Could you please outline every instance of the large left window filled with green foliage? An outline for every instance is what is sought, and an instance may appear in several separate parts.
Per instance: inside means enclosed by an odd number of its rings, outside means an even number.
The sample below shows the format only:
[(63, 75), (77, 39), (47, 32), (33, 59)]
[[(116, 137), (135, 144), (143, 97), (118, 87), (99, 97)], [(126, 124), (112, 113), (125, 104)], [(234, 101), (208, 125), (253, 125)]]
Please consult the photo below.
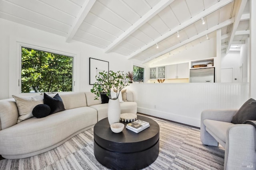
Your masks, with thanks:
[(73, 57), (21, 47), (21, 92), (73, 90)]

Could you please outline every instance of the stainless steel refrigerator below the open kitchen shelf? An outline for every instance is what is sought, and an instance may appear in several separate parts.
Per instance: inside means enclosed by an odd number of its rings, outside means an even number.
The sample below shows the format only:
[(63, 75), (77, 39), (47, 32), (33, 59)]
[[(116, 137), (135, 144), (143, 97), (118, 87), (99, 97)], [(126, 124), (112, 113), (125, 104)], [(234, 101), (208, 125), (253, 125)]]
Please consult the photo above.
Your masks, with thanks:
[(190, 70), (190, 83), (213, 83), (215, 79), (215, 67), (198, 68)]

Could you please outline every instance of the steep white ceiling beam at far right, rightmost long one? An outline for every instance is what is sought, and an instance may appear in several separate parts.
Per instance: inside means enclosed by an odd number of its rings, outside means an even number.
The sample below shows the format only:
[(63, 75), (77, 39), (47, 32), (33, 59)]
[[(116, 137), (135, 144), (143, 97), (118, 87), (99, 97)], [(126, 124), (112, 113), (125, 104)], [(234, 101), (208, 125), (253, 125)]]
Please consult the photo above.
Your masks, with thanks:
[(226, 54), (228, 53), (228, 51), (230, 49), (230, 46), (232, 44), (232, 41), (234, 39), (234, 36), (236, 34), (236, 29), (237, 29), (238, 24), (240, 22), (241, 16), (244, 12), (244, 8), (246, 6), (246, 3), (247, 3), (247, 0), (239, 0), (238, 1), (238, 10), (236, 11), (236, 14), (235, 14), (235, 21), (233, 23), (232, 31), (230, 33), (230, 38), (228, 40), (228, 47), (227, 47)]

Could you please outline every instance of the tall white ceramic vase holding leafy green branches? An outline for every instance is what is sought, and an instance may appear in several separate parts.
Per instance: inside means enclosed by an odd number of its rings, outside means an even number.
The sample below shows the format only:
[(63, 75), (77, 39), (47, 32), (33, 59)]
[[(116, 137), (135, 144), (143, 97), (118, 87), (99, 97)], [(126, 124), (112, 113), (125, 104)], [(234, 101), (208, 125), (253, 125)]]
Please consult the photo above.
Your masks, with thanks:
[(120, 121), (120, 102), (119, 99), (108, 101), (108, 122), (113, 124)]

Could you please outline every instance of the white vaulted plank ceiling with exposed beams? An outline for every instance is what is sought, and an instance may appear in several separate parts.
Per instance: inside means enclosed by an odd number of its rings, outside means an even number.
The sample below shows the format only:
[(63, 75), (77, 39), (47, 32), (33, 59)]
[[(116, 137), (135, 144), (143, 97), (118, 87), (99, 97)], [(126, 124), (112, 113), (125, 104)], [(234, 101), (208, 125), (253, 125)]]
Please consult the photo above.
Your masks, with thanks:
[(0, 0), (0, 18), (141, 63), (207, 41), (218, 29), (228, 52), (250, 32), (249, 0)]

